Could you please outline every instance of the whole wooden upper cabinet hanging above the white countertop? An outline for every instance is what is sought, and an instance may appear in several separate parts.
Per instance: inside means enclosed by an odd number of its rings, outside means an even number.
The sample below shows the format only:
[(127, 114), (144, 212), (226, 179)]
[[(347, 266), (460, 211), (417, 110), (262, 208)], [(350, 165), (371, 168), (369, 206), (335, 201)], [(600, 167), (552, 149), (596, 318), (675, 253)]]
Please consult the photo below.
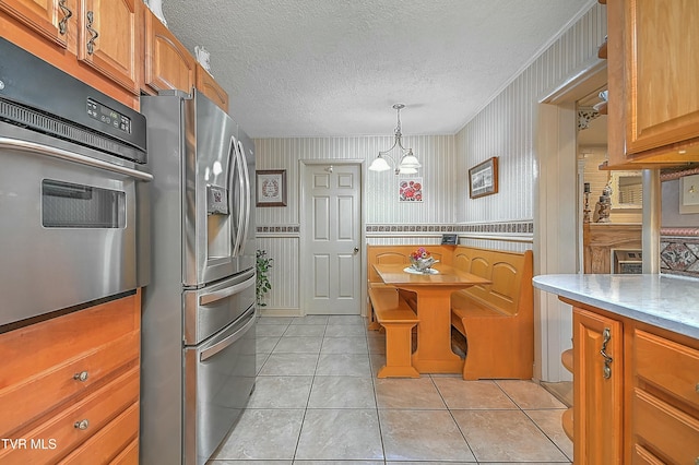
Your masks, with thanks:
[(699, 162), (699, 2), (607, 2), (609, 166)]

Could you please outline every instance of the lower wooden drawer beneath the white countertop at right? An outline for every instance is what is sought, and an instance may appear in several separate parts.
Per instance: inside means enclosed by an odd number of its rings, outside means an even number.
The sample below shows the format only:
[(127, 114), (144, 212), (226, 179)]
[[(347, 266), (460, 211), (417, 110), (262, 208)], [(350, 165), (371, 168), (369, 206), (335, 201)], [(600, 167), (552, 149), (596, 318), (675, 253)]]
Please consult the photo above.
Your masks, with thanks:
[(694, 464), (699, 457), (697, 418), (639, 389), (633, 393), (631, 415), (637, 448), (640, 444), (670, 463)]

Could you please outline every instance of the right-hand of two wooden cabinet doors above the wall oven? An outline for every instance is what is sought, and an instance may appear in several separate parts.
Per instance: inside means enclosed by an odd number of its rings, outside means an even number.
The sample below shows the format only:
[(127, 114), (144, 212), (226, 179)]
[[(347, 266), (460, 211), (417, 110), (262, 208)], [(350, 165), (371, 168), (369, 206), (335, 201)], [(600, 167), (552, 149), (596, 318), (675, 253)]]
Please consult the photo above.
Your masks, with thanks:
[(141, 0), (80, 0), (78, 59), (139, 94)]

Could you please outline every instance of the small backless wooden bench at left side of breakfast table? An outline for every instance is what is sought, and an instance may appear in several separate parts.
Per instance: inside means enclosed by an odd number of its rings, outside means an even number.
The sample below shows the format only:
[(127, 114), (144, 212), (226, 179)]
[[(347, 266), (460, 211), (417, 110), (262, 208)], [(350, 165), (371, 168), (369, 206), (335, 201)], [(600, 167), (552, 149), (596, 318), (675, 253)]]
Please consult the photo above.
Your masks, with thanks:
[(417, 315), (394, 287), (369, 288), (376, 322), (386, 330), (386, 365), (378, 378), (419, 378), (412, 365), (412, 334)]

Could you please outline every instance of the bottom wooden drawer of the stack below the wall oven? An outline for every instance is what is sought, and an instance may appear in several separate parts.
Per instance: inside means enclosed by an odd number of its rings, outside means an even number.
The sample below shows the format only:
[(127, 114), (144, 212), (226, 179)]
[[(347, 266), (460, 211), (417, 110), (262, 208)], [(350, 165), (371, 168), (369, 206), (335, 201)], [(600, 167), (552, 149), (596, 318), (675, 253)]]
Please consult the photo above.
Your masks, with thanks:
[[(132, 404), (60, 464), (138, 464), (139, 403)], [(135, 445), (135, 446), (134, 446)]]

